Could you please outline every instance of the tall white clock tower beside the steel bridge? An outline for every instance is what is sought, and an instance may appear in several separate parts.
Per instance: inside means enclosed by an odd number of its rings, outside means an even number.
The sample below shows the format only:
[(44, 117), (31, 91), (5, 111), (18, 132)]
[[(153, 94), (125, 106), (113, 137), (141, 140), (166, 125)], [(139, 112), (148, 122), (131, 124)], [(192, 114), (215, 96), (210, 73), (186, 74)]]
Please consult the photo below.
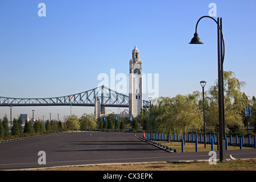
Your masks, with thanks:
[(136, 45), (132, 51), (129, 72), (129, 114), (133, 117), (141, 114), (142, 98), (142, 61), (139, 60), (139, 50)]

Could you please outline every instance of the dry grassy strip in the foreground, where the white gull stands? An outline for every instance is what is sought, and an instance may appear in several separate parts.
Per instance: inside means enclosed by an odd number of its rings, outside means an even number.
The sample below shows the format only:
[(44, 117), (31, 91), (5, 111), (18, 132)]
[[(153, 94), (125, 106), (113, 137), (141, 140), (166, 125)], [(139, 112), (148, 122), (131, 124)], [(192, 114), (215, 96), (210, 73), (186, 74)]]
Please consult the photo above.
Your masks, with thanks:
[(34, 171), (255, 171), (256, 159), (217, 162), (138, 163), (34, 169)]

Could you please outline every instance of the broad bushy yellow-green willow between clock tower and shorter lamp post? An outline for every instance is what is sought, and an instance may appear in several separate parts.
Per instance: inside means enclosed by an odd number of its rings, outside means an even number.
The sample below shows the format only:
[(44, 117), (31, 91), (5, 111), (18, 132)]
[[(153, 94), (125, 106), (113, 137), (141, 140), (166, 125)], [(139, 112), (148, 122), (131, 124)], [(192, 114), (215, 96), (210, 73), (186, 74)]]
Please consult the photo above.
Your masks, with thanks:
[(200, 93), (193, 92), (183, 96), (159, 97), (152, 107), (153, 128), (168, 134), (186, 133), (189, 128), (200, 129), (203, 117), (197, 105)]

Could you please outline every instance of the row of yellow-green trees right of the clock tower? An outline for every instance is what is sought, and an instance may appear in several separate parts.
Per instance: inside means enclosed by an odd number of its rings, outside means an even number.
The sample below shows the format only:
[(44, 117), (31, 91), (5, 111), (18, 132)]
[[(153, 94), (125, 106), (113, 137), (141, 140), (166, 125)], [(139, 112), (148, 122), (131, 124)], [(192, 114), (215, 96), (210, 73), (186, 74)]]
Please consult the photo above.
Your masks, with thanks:
[[(241, 89), (246, 82), (239, 81), (234, 72), (224, 72), (224, 101), (225, 101), (225, 133), (247, 134), (247, 125), (256, 126), (256, 99), (248, 97)], [(218, 81), (205, 92), (205, 121), (208, 133), (218, 133)], [(245, 107), (250, 107), (250, 121), (247, 121)], [(249, 113), (249, 114), (250, 114)], [(142, 109), (137, 120), (143, 129), (149, 130), (149, 112)], [(249, 120), (249, 119), (248, 119)], [(203, 94), (196, 91), (185, 96), (159, 97), (152, 101), (151, 125), (154, 132), (159, 133), (188, 133), (195, 129), (200, 133), (204, 129)], [(248, 122), (248, 123), (247, 123)], [(255, 135), (250, 133), (251, 135)]]

